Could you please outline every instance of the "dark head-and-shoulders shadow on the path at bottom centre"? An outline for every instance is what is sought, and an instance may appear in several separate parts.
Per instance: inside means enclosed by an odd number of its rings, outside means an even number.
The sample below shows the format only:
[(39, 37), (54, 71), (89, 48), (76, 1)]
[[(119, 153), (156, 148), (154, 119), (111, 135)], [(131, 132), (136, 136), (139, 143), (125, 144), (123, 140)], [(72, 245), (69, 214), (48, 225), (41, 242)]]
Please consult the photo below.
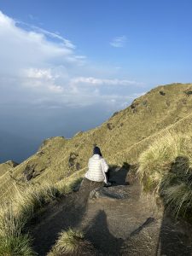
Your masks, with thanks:
[(120, 255), (124, 240), (110, 233), (107, 215), (103, 210), (100, 210), (90, 224), (84, 228), (84, 233), (85, 238), (96, 247), (98, 255)]

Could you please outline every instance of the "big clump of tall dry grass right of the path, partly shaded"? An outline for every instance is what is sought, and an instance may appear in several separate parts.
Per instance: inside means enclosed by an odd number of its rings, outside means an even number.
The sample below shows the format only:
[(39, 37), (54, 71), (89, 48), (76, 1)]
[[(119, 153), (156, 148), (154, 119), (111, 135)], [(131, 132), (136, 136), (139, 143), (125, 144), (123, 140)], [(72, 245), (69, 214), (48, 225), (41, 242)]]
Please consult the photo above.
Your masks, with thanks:
[(144, 191), (162, 196), (175, 215), (192, 210), (192, 135), (167, 132), (139, 157)]

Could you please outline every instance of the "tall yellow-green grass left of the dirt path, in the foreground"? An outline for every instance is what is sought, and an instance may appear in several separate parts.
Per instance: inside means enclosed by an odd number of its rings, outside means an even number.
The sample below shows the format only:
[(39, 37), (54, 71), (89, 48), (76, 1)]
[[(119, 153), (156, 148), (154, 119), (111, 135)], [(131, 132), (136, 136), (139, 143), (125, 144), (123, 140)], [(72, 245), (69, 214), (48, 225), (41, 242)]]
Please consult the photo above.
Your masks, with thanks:
[(35, 184), (16, 187), (13, 201), (0, 205), (0, 255), (32, 256), (32, 238), (27, 234), (27, 224), (50, 201), (73, 191), (77, 180), (69, 183)]

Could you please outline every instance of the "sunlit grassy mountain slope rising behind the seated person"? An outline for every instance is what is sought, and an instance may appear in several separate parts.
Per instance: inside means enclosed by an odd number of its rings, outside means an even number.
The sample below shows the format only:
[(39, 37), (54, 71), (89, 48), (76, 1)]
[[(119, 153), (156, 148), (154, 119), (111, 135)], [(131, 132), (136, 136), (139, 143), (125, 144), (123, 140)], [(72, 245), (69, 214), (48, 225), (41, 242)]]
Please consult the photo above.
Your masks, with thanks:
[[(77, 134), (72, 139), (54, 137), (48, 139), (38, 153), (12, 169), (13, 177), (20, 180), (28, 168), (34, 170), (31, 182), (52, 183), (65, 181), (73, 172), (87, 165), (96, 143), (102, 148), (102, 154), (110, 164), (121, 165), (124, 161), (136, 163), (138, 155), (153, 142), (165, 129), (189, 131), (192, 115), (192, 84), (170, 84), (159, 86), (146, 95), (137, 98), (129, 108), (115, 114), (111, 119), (90, 131)], [(163, 91), (165, 95), (161, 95)], [(71, 158), (73, 166), (68, 166)], [(72, 154), (76, 154), (73, 157)], [(0, 170), (3, 168), (0, 165)], [(4, 169), (3, 169), (4, 170)], [(81, 171), (81, 172), (82, 172)], [(1, 171), (0, 171), (1, 172)], [(10, 170), (0, 176), (1, 195), (13, 187), (14, 178)], [(78, 171), (79, 172), (79, 171)], [(22, 183), (22, 182), (19, 182)]]

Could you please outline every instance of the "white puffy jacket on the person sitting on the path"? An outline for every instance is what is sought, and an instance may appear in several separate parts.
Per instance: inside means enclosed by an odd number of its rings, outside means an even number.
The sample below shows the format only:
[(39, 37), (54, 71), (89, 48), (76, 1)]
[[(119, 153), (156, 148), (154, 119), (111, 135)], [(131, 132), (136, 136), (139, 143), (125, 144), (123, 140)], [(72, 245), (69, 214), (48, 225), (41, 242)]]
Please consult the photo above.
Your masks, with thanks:
[(108, 164), (101, 155), (94, 154), (90, 157), (88, 168), (89, 170), (85, 173), (84, 177), (96, 182), (108, 182), (105, 174), (105, 172), (108, 172)]

